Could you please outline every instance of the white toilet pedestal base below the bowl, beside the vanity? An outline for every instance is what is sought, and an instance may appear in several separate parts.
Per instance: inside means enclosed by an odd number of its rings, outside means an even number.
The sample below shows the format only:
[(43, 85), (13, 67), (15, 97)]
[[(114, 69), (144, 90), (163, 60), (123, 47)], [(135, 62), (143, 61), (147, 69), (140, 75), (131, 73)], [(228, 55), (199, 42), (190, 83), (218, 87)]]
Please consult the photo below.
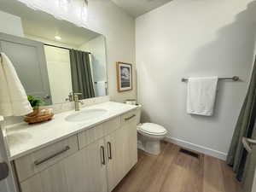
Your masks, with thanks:
[(143, 135), (138, 133), (137, 136), (137, 148), (147, 152), (148, 154), (158, 155), (160, 154), (160, 140), (159, 139), (150, 139), (148, 137), (144, 137)]

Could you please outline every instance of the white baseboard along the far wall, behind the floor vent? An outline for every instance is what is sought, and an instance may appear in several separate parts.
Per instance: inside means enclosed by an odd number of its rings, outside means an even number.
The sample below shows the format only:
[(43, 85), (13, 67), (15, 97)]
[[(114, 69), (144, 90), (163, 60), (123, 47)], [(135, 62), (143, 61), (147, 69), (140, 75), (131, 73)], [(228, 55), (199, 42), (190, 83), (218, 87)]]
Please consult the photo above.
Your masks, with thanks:
[(168, 142), (168, 143), (177, 144), (178, 146), (181, 146), (183, 148), (189, 148), (191, 150), (198, 151), (201, 154), (207, 154), (207, 155), (210, 155), (212, 157), (216, 157), (220, 160), (226, 160), (226, 158), (227, 158), (227, 154), (225, 154), (223, 152), (214, 150), (212, 148), (206, 148), (206, 147), (203, 147), (201, 145), (194, 144), (194, 143), (189, 143), (189, 142), (186, 142), (186, 141), (183, 141), (181, 139), (174, 138), (174, 137), (166, 137), (165, 141)]

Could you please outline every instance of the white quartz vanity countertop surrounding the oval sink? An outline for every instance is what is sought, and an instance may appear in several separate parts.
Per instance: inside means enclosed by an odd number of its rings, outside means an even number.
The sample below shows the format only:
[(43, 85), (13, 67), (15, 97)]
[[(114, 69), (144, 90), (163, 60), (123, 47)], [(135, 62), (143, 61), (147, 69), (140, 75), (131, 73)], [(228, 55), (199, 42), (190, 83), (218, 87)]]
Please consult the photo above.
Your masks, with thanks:
[(106, 109), (107, 113), (99, 117), (91, 118), (80, 122), (69, 122), (65, 118), (75, 112), (74, 110), (57, 113), (54, 118), (44, 123), (28, 125), (25, 122), (9, 125), (5, 127), (5, 138), (9, 148), (9, 160), (15, 160), (25, 154), (32, 153), (39, 148), (70, 137), (80, 131), (108, 121), (122, 113), (129, 112), (137, 106), (127, 105), (119, 102), (103, 102), (90, 107), (81, 108), (80, 111), (87, 109)]

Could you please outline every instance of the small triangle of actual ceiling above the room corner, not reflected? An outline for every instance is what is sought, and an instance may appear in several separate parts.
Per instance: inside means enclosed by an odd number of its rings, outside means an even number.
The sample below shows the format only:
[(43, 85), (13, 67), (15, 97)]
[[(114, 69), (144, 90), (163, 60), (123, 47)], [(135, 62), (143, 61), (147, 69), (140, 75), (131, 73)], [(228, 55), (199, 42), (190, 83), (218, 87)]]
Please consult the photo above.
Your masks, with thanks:
[(143, 15), (152, 9), (156, 9), (172, 0), (112, 0), (120, 8), (134, 17)]

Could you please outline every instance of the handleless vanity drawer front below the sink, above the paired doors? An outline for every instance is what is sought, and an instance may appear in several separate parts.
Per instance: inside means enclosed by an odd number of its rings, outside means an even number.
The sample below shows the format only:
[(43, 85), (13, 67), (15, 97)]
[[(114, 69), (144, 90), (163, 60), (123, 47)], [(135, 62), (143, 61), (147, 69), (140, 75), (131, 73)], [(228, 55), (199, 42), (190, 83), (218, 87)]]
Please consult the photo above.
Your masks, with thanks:
[(90, 143), (107, 136), (112, 131), (120, 127), (120, 117), (108, 120), (101, 125), (90, 128), (89, 130), (79, 133), (79, 149), (86, 147)]

